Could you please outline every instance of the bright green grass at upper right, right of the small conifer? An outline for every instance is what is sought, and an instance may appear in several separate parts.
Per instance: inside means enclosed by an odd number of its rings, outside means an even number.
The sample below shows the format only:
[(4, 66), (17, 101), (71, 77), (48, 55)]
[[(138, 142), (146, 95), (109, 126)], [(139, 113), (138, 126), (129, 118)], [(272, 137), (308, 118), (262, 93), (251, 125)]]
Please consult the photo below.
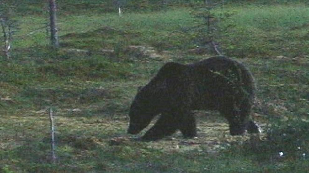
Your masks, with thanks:
[(222, 23), (221, 27), (227, 31), (220, 40), (232, 55), (295, 57), (308, 54), (307, 6), (265, 5), (230, 10), (235, 15)]

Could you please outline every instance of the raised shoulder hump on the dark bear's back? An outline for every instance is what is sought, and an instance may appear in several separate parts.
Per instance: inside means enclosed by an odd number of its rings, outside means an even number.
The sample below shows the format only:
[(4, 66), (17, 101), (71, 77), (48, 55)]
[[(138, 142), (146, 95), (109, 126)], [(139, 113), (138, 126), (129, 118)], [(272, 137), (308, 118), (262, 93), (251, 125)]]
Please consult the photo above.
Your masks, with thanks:
[(163, 67), (159, 70), (157, 76), (161, 77), (174, 77), (179, 76), (187, 69), (187, 66), (184, 64), (176, 62), (168, 62), (164, 64)]

